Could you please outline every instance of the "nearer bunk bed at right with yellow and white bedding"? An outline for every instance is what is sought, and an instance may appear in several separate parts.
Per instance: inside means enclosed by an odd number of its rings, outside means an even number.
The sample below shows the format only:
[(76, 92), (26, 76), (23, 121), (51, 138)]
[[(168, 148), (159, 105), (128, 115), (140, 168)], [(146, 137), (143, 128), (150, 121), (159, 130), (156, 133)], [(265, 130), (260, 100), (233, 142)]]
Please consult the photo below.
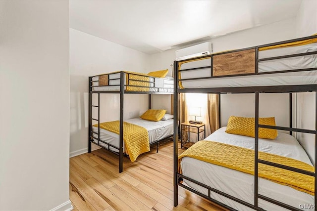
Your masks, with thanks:
[[(178, 133), (174, 133), (174, 206), (178, 205), (178, 186), (194, 192), (228, 210), (301, 210), (317, 205), (317, 35), (259, 45), (207, 56), (174, 61), (174, 131), (177, 129), (178, 93), (254, 93), (253, 137), (228, 134), (222, 127), (178, 155)], [(260, 93), (289, 93), (289, 127), (264, 124), (259, 117)], [(292, 93), (315, 92), (315, 129), (292, 126)], [(220, 104), (220, 103), (219, 103)], [(228, 124), (229, 125), (229, 124)], [(260, 137), (261, 129), (284, 130), (275, 140)], [(292, 136), (293, 132), (315, 135), (315, 162)], [(247, 143), (247, 144), (246, 144)], [(276, 145), (277, 144), (277, 145)], [(212, 147), (207, 147), (207, 146)], [(225, 146), (224, 146), (225, 145)], [(270, 145), (270, 147), (268, 147)], [(239, 147), (237, 147), (239, 146)], [(224, 149), (230, 150), (224, 151)], [(217, 157), (244, 148), (250, 153), (250, 172), (238, 168), (244, 159), (235, 157), (236, 165), (219, 166), (200, 159), (200, 154)], [(208, 150), (209, 149), (209, 150)], [(268, 150), (267, 149), (271, 149)], [(307, 169), (265, 160), (265, 151), (285, 159), (299, 160)], [(287, 152), (285, 152), (287, 151)], [(291, 152), (290, 152), (291, 151)], [(220, 153), (219, 153), (220, 152)], [(241, 153), (239, 151), (239, 153)], [(233, 155), (234, 156), (234, 155)], [(225, 156), (232, 157), (232, 155)], [(220, 158), (222, 159), (222, 158)], [(283, 158), (284, 159), (284, 158)], [(220, 162), (221, 163), (221, 162)], [(216, 164), (216, 165), (215, 165)], [(304, 165), (304, 164), (303, 164)], [(261, 168), (287, 170), (310, 179), (310, 192), (273, 182), (263, 177)], [(269, 173), (269, 172), (268, 172)], [(220, 178), (220, 179), (219, 179)], [(307, 178), (307, 177), (305, 177)], [(315, 181), (314, 181), (315, 179)], [(304, 181), (308, 181), (305, 180)], [(313, 181), (313, 182), (312, 182)], [(299, 207), (299, 202), (303, 207)]]

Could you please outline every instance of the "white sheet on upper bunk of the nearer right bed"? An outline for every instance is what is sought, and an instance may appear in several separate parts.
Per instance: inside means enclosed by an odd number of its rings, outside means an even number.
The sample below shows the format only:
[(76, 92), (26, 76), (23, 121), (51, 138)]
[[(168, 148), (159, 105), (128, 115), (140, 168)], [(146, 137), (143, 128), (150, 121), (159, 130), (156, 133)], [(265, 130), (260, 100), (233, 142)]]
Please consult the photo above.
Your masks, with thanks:
[[(317, 43), (259, 51), (259, 59), (317, 51)], [(210, 66), (211, 59), (188, 62), (181, 70)], [(317, 68), (317, 54), (259, 62), (259, 73)], [(211, 68), (181, 72), (181, 79), (210, 77)], [(317, 71), (182, 81), (185, 88), (317, 84)]]

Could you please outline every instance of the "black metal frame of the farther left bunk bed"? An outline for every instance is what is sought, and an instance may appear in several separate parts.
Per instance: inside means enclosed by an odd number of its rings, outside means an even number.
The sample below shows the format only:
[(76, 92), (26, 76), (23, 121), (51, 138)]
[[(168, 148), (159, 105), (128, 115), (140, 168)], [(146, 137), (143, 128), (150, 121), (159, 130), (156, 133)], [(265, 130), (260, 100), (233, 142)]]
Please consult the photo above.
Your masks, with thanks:
[[(111, 73), (110, 73), (111, 74)], [(98, 87), (97, 85), (93, 85), (94, 82), (99, 82), (99, 80), (97, 81), (93, 81), (93, 78), (94, 77), (98, 77), (98, 76), (91, 76), (91, 77), (88, 77), (88, 80), (89, 80), (89, 86), (88, 86), (88, 89), (89, 89), (89, 97), (88, 97), (88, 108), (89, 108), (89, 111), (88, 111), (88, 152), (91, 153), (91, 144), (94, 143), (100, 147), (102, 147), (103, 149), (106, 149), (107, 151), (119, 156), (119, 173), (121, 173), (123, 171), (123, 156), (126, 156), (124, 153), (123, 153), (123, 105), (124, 105), (124, 94), (125, 93), (129, 93), (129, 94), (148, 94), (149, 95), (149, 109), (151, 109), (151, 94), (173, 94), (173, 92), (152, 92), (152, 91), (127, 91), (127, 90), (124, 90), (125, 87), (140, 87), (140, 88), (149, 88), (149, 86), (144, 86), (144, 85), (131, 85), (129, 84), (130, 81), (135, 81), (135, 82), (146, 82), (146, 83), (151, 83), (151, 84), (154, 84), (154, 82), (147, 82), (147, 81), (141, 81), (141, 80), (135, 80), (135, 79), (129, 79), (127, 80), (127, 84), (124, 83), (124, 79), (125, 79), (125, 75), (124, 74), (127, 74), (127, 78), (129, 78), (129, 75), (135, 75), (135, 76), (143, 76), (143, 75), (138, 75), (138, 74), (134, 74), (134, 73), (126, 73), (124, 71), (120, 71), (120, 91), (95, 91), (93, 90), (93, 87)], [(150, 77), (149, 78), (154, 78), (154, 77)], [(111, 80), (118, 80), (118, 79), (109, 79), (108, 77), (108, 84)], [(106, 85), (106, 86), (117, 86), (117, 85)], [(117, 93), (117, 94), (120, 94), (120, 123), (119, 123), (119, 131), (120, 131), (120, 134), (119, 134), (119, 148), (112, 145), (112, 144), (109, 144), (107, 143), (106, 141), (103, 141), (100, 139), (100, 94), (105, 94), (105, 93), (108, 93), (108, 94), (114, 94), (114, 93)], [(93, 105), (92, 104), (92, 100), (93, 100), (93, 94), (98, 94), (98, 105)], [(95, 119), (92, 117), (93, 115), (93, 107), (96, 107), (98, 108), (98, 119)], [(93, 131), (93, 124), (92, 124), (92, 121), (96, 121), (98, 122), (98, 132), (95, 132)], [(96, 134), (98, 135), (98, 137), (94, 137), (93, 134)], [(152, 145), (155, 145), (157, 144), (157, 152), (159, 151), (159, 142), (161, 141), (167, 141), (169, 139), (171, 139), (173, 137), (173, 135), (169, 135), (167, 137), (164, 137), (162, 139), (159, 139), (159, 140), (156, 140), (154, 142), (152, 142), (150, 144), (150, 146)], [(97, 140), (97, 143), (94, 142), (94, 139)], [(103, 144), (106, 144), (107, 146), (103, 146), (100, 144), (103, 143)], [(117, 150), (119, 150), (119, 152), (115, 152), (113, 150), (111, 150), (109, 147), (113, 147)]]

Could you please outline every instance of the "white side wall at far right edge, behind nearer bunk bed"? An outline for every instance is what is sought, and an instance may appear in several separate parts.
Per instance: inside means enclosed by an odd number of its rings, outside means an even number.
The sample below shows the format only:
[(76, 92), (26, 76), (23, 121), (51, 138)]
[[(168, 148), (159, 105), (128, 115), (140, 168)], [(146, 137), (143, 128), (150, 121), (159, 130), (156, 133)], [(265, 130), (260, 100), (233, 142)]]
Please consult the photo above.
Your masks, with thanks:
[[(296, 17), (297, 37), (311, 36), (317, 33), (317, 1), (303, 0)], [(297, 94), (297, 127), (314, 129), (316, 125), (314, 114), (316, 97), (314, 93)], [(297, 139), (315, 162), (315, 136), (307, 133), (297, 133)]]

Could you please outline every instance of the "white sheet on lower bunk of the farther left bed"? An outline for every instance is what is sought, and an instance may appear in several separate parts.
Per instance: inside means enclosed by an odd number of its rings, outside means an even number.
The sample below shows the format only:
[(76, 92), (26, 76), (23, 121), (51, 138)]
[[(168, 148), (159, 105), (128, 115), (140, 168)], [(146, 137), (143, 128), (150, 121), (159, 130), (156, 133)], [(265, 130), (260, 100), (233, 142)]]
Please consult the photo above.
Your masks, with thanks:
[[(174, 130), (174, 120), (166, 120), (166, 121), (148, 121), (148, 120), (143, 120), (141, 118), (134, 118), (130, 120), (124, 120), (124, 122), (131, 123), (134, 125), (138, 125), (141, 127), (144, 127), (148, 130), (149, 132), (149, 141), (150, 144), (154, 141), (160, 140), (164, 137), (167, 137), (171, 134), (173, 134)], [(93, 131), (98, 132), (98, 127), (93, 127)], [(93, 133), (94, 137), (98, 137), (97, 134)], [(119, 148), (120, 144), (120, 137), (118, 134), (110, 132), (108, 130), (100, 128), (100, 139), (103, 141), (106, 141), (107, 143), (116, 146)], [(97, 143), (97, 140), (94, 139), (94, 142)], [(101, 145), (107, 147), (106, 144), (99, 142)], [(124, 144), (123, 144), (124, 145)], [(110, 150), (113, 150), (115, 152), (119, 152), (117, 149), (110, 147)], [(124, 146), (123, 146), (123, 151), (124, 151)]]

